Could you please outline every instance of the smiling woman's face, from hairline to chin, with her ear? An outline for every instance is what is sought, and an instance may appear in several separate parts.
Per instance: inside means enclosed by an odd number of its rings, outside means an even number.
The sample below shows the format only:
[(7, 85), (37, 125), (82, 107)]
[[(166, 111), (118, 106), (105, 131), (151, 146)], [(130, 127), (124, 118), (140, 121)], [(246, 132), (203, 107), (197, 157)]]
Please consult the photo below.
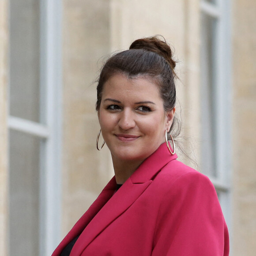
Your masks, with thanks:
[(143, 161), (165, 141), (175, 109), (163, 108), (158, 86), (117, 74), (104, 84), (98, 111), (102, 136), (116, 161)]

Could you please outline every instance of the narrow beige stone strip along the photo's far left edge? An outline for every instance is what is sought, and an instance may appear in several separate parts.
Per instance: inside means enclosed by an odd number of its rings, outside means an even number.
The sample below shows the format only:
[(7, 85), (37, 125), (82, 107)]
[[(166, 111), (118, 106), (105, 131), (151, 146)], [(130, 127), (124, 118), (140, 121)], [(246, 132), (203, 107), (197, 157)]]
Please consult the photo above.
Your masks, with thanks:
[(0, 251), (7, 255), (7, 45), (8, 1), (0, 0)]

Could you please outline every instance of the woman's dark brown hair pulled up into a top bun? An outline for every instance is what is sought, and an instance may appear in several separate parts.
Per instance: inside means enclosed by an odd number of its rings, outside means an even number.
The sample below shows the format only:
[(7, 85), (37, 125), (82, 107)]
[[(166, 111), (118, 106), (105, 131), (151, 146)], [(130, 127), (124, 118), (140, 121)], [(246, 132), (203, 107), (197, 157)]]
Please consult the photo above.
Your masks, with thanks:
[[(159, 36), (138, 39), (131, 44), (129, 50), (116, 53), (105, 62), (98, 79), (97, 111), (102, 101), (104, 84), (115, 74), (124, 74), (129, 78), (140, 76), (152, 79), (159, 87), (165, 111), (169, 112), (174, 108), (176, 61), (173, 60), (173, 52), (165, 38), (161, 39)], [(174, 126), (177, 126), (176, 129)], [(180, 124), (176, 117), (173, 119), (170, 131), (173, 137), (177, 137), (180, 133)]]

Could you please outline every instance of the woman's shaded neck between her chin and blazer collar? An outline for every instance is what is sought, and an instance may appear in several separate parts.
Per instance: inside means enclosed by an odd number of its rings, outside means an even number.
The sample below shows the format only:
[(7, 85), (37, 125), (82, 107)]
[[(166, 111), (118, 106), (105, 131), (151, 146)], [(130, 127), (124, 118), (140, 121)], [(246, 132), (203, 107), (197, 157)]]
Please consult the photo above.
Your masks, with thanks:
[(117, 184), (124, 184), (124, 182), (131, 177), (132, 173), (138, 169), (143, 161), (120, 161), (112, 156), (113, 167)]

